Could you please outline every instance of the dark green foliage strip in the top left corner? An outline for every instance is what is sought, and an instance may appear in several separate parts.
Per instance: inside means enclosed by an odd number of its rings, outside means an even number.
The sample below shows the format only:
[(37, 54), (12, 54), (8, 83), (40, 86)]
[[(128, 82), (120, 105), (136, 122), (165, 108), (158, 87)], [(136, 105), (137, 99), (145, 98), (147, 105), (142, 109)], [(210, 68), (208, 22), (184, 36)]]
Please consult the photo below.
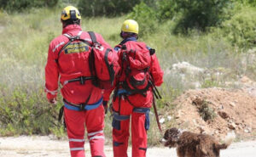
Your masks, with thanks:
[(1, 8), (7, 11), (21, 11), (32, 7), (53, 7), (59, 0), (0, 0)]

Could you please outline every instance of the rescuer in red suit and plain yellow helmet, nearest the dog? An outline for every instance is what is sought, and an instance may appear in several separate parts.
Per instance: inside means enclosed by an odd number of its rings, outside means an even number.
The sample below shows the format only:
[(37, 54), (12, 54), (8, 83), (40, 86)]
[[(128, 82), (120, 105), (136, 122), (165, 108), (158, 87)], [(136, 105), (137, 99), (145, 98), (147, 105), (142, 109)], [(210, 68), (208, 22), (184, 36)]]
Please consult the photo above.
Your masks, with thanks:
[[(127, 157), (131, 121), (132, 157), (145, 157), (147, 151), (149, 110), (154, 97), (153, 88), (149, 87), (146, 92), (140, 94), (132, 93), (121, 85), (126, 81), (126, 74), (125, 67), (122, 67), (123, 55), (120, 52), (122, 51), (122, 45), (130, 42), (130, 47), (133, 47), (132, 44), (136, 44), (138, 38), (137, 21), (125, 20), (121, 27), (120, 36), (123, 38), (123, 41), (114, 48), (119, 53), (119, 66), (122, 69), (119, 71), (119, 76), (116, 79), (116, 86), (113, 93), (113, 156)], [(163, 71), (160, 69), (160, 64), (155, 54), (151, 55), (148, 72), (152, 76), (154, 85), (160, 86), (163, 82)], [(103, 104), (108, 104), (110, 93), (111, 90), (104, 93)]]

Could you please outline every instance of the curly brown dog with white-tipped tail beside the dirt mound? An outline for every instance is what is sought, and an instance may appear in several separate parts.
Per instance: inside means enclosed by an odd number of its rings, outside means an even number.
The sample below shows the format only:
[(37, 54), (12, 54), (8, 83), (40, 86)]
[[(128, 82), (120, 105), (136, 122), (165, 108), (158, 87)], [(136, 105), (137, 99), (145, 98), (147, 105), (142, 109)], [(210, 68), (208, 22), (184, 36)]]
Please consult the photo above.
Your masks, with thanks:
[(227, 149), (234, 139), (234, 133), (228, 134), (220, 144), (210, 135), (172, 128), (166, 130), (163, 142), (166, 147), (177, 148), (178, 157), (219, 157), (219, 150)]

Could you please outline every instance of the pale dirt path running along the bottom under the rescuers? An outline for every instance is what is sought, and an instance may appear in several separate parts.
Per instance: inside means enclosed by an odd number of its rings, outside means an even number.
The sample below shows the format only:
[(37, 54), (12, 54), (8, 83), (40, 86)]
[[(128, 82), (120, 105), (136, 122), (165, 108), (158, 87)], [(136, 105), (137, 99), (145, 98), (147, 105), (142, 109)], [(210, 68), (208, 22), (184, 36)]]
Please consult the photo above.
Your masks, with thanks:
[[(88, 143), (86, 156), (90, 156)], [(131, 148), (129, 148), (131, 152)], [(107, 157), (113, 156), (111, 146), (105, 147)], [(129, 154), (131, 157), (131, 153)], [(1, 157), (68, 157), (67, 141), (50, 137), (0, 137)], [(176, 157), (175, 149), (149, 148), (147, 157)], [(229, 149), (221, 151), (221, 157), (255, 157), (256, 141), (232, 143)]]

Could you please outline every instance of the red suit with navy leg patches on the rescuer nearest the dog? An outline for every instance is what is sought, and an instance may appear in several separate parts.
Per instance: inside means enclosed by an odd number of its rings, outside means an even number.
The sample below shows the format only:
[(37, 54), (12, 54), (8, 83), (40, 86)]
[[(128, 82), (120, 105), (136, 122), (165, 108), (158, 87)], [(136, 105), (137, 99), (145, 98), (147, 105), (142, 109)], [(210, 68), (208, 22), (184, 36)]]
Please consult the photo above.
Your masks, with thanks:
[[(136, 41), (136, 38), (128, 38), (121, 42)], [(116, 47), (118, 48), (118, 47)], [(115, 50), (118, 50), (116, 49)], [(119, 65), (121, 66), (119, 55)], [(155, 86), (160, 86), (163, 82), (163, 71), (156, 55), (152, 55), (152, 62), (149, 72), (153, 76)], [(119, 77), (119, 81), (125, 81), (125, 72)], [(108, 101), (111, 91), (104, 93), (104, 101)], [(130, 137), (130, 117), (131, 117), (131, 142), (132, 157), (145, 157), (147, 150), (147, 130), (149, 128), (149, 110), (153, 103), (153, 91), (149, 90), (144, 97), (142, 94), (132, 94), (127, 98), (122, 95), (125, 90), (119, 88), (117, 97), (113, 99), (113, 156), (127, 157), (128, 140)], [(115, 116), (116, 115), (116, 116)]]

